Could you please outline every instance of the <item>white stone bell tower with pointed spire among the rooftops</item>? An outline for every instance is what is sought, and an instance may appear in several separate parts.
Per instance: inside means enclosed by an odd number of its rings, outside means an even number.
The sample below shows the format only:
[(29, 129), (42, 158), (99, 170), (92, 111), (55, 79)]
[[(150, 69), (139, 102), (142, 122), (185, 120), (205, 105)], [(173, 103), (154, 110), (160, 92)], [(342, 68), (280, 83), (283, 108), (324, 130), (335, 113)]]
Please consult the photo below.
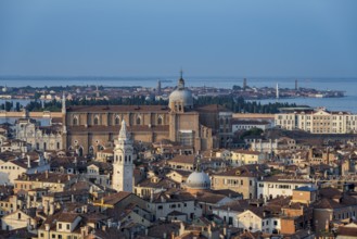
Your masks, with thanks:
[(124, 120), (122, 122), (119, 137), (114, 143), (112, 188), (117, 191), (132, 192), (132, 141), (129, 139)]

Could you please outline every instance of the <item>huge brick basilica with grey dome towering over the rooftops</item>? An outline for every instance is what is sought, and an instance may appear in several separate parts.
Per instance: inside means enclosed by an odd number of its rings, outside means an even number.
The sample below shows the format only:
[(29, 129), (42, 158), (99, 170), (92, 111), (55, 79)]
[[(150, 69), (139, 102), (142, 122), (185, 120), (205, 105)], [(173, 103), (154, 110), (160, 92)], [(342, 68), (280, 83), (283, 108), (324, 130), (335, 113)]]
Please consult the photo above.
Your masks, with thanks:
[(177, 88), (163, 105), (65, 106), (63, 146), (80, 154), (93, 154), (113, 147), (122, 122), (137, 142), (167, 139), (192, 148), (193, 152), (226, 147), (232, 138), (232, 112), (221, 105), (196, 108), (191, 90), (179, 78)]

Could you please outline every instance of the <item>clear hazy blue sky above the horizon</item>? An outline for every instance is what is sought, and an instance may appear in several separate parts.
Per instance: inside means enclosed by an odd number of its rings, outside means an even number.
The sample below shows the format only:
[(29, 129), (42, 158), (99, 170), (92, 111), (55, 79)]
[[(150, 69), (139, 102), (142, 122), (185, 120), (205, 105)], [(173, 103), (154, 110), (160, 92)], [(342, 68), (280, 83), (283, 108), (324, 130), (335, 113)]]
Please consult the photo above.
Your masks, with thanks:
[(0, 75), (357, 77), (356, 0), (1, 0)]

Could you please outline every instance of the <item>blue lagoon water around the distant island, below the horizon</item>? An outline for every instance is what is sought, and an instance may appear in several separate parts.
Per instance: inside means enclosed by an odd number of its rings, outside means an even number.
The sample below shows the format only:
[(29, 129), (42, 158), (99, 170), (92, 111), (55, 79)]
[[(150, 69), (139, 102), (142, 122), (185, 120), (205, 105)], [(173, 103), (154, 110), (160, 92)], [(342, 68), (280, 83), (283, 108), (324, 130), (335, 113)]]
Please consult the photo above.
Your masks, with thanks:
[[(216, 87), (232, 88), (242, 86), (243, 77), (190, 77), (187, 76), (188, 87)], [(162, 87), (175, 86), (177, 77), (0, 77), (0, 85), (8, 87), (43, 87), (43, 86), (142, 86), (156, 87), (157, 80), (162, 80)], [(294, 88), (294, 77), (247, 77), (250, 87), (276, 87)], [(332, 111), (350, 111), (357, 113), (357, 78), (297, 78), (298, 87), (320, 90), (343, 90), (344, 98), (296, 98), (279, 99), (279, 102), (305, 104), (314, 108), (326, 106)], [(2, 103), (0, 100), (0, 103)], [(276, 99), (260, 100), (262, 103), (276, 102)]]

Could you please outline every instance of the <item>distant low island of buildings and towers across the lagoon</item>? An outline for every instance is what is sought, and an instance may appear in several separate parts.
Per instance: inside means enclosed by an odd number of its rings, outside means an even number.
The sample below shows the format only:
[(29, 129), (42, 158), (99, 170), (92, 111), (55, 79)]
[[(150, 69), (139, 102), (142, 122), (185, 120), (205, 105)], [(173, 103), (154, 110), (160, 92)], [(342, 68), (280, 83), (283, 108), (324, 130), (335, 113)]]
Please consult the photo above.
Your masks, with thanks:
[[(66, 92), (68, 99), (73, 100), (111, 100), (131, 97), (145, 97), (148, 99), (155, 98), (156, 100), (166, 100), (169, 92), (175, 87), (162, 87), (162, 83), (167, 80), (157, 80), (155, 87), (142, 86), (110, 86), (87, 85), (87, 86), (52, 86), (52, 87), (7, 87), (0, 86), (0, 99), (22, 99), (22, 100), (61, 100), (62, 93)], [(279, 88), (277, 87), (251, 87), (247, 80), (243, 79), (243, 85), (234, 85), (232, 88), (219, 87), (190, 87), (193, 96), (197, 99), (200, 97), (221, 97), (232, 96), (233, 98), (242, 97), (245, 100), (264, 100), (264, 99), (286, 99), (286, 98), (342, 98), (345, 92), (342, 90), (319, 90), (314, 88), (303, 88), (297, 86), (295, 80), (294, 88)]]

